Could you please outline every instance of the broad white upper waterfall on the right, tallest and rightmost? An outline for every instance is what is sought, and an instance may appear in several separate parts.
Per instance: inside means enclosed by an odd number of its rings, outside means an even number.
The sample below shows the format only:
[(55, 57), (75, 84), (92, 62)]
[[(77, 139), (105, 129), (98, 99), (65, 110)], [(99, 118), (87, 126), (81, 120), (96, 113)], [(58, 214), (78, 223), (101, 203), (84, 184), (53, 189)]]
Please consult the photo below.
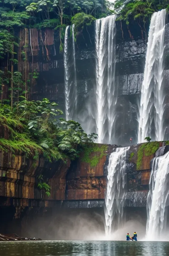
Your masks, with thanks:
[[(163, 112), (163, 56), (165, 13), (161, 10), (152, 15), (148, 35), (144, 80), (139, 106), (138, 143), (147, 136), (162, 141), (164, 137)], [(155, 131), (153, 131), (153, 126)]]

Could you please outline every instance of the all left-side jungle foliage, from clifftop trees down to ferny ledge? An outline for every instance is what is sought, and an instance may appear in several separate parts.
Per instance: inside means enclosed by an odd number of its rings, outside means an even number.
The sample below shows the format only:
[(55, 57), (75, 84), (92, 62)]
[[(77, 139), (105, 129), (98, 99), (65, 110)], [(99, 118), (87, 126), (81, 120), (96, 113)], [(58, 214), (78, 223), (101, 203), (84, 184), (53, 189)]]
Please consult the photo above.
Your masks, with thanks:
[[(61, 46), (66, 25), (81, 29), (96, 18), (110, 13), (107, 1), (75, 0), (2, 0), (0, 1), (0, 150), (24, 153), (36, 160), (71, 160), (79, 156), (86, 143), (93, 143), (97, 134), (87, 135), (81, 125), (60, 118), (62, 111), (48, 99), (30, 101), (30, 83), (39, 77), (33, 69), (25, 75), (18, 70), (18, 29), (53, 28), (60, 34)], [(107, 15), (106, 14), (106, 15)], [(74, 17), (74, 19), (73, 19)], [(27, 47), (21, 58), (28, 62)], [(3, 62), (4, 59), (4, 62)], [(5, 66), (3, 66), (5, 63)], [(50, 187), (39, 178), (38, 187), (50, 195)]]

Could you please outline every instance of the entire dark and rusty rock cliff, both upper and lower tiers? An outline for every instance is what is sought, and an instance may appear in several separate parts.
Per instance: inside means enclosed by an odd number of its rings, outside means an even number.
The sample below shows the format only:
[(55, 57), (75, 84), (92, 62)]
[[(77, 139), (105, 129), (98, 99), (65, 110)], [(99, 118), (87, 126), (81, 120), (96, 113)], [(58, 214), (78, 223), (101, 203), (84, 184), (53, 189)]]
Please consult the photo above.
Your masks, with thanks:
[[(64, 61), (63, 54), (59, 52), (58, 32), (52, 29), (25, 28), (20, 30), (19, 38), (18, 69), (22, 72), (24, 82), (30, 80), (30, 84), (26, 85), (30, 87), (29, 98), (56, 101), (65, 112)], [(136, 141), (138, 99), (143, 81), (147, 38), (148, 25), (143, 32), (134, 21), (129, 27), (124, 23), (121, 27), (120, 22), (117, 22), (115, 82), (118, 84), (118, 125), (115, 135), (118, 144), (128, 145), (129, 137), (133, 137), (133, 142)], [(169, 127), (169, 23), (165, 28), (164, 41), (164, 125)], [(88, 117), (87, 104), (92, 99), (96, 84), (94, 24), (84, 28), (83, 33), (78, 35), (75, 49), (78, 100), (75, 120), (86, 128), (85, 131), (88, 131), (88, 127), (91, 131), (93, 123), (87, 126), (85, 118)], [(23, 52), (29, 62), (24, 61)], [(30, 76), (30, 72), (38, 72), (38, 79)], [(6, 94), (7, 90), (6, 93), (4, 91), (4, 95)], [(7, 138), (6, 132), (0, 132), (2, 137)], [(168, 128), (166, 132), (169, 133)], [(156, 143), (150, 148), (143, 145), (145, 144), (131, 146), (127, 156), (126, 206), (130, 208), (146, 206), (150, 161), (158, 148), (165, 146), (162, 143)], [(9, 218), (21, 218), (27, 212), (34, 215), (36, 211), (40, 211), (39, 208), (43, 212), (46, 209), (58, 210), (59, 207), (103, 207), (108, 159), (116, 147), (98, 144), (81, 153), (77, 161), (68, 161), (67, 164), (48, 163), (42, 157), (35, 162), (19, 153), (15, 156), (12, 152), (0, 153), (1, 223), (6, 223)], [(51, 186), (50, 197), (37, 188), (39, 175), (43, 175), (44, 181)]]

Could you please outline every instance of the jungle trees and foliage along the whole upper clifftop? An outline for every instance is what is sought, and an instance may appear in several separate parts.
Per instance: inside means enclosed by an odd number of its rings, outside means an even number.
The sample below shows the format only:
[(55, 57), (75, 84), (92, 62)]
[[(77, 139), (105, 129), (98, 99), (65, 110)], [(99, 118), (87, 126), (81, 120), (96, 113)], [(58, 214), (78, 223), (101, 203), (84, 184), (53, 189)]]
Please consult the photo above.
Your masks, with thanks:
[[(167, 8), (168, 0), (1, 0), (0, 1), (0, 58), (10, 54), (11, 65), (16, 65), (14, 49), (17, 27), (53, 28), (60, 35), (60, 51), (63, 51), (65, 28), (75, 24), (75, 34), (92, 23), (94, 19), (113, 13), (117, 19), (137, 19), (138, 23), (150, 18), (154, 11)], [(140, 25), (141, 26), (141, 25)], [(26, 47), (26, 46), (25, 46)]]

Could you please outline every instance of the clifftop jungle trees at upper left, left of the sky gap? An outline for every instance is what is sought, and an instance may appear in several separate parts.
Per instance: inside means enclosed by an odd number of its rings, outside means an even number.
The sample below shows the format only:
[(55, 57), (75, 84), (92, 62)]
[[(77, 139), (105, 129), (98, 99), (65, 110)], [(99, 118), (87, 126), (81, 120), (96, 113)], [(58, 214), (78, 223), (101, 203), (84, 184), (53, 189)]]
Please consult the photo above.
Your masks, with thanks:
[(107, 0), (1, 0), (0, 56), (10, 53), (12, 64), (17, 64), (14, 58), (14, 46), (18, 44), (15, 38), (17, 27), (58, 30), (62, 51), (67, 25), (75, 24), (77, 34), (95, 18), (111, 14), (110, 7)]

